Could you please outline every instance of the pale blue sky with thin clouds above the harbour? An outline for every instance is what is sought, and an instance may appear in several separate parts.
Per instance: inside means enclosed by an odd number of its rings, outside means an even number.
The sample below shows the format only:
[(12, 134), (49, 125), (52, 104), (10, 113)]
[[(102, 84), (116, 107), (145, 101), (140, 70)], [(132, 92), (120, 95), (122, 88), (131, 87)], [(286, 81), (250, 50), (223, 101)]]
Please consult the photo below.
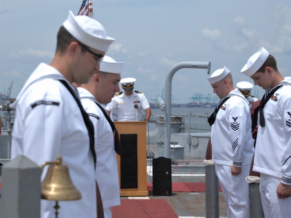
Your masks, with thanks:
[[(0, 92), (13, 80), (12, 97), (40, 62), (50, 63), (56, 34), (68, 11), (82, 0), (0, 0)], [(182, 61), (211, 62), (210, 74), (226, 66), (234, 83), (253, 81), (240, 73), (262, 46), (291, 75), (290, 0), (93, 0), (94, 18), (116, 38), (107, 55), (124, 61), (121, 78), (137, 79), (135, 89), (150, 99), (162, 95), (171, 67)], [(206, 69), (181, 69), (173, 77), (174, 103), (213, 94)], [(253, 87), (252, 94), (264, 90)]]

